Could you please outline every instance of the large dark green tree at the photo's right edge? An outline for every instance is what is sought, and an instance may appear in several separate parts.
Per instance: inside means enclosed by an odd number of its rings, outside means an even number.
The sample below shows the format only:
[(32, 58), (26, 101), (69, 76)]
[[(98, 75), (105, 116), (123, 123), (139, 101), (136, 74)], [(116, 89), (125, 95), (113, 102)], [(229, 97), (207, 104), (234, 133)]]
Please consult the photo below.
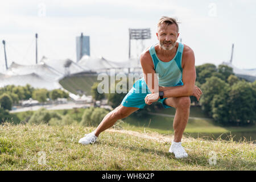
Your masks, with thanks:
[(256, 89), (253, 84), (239, 81), (226, 92), (213, 97), (212, 116), (224, 124), (248, 125), (255, 123)]

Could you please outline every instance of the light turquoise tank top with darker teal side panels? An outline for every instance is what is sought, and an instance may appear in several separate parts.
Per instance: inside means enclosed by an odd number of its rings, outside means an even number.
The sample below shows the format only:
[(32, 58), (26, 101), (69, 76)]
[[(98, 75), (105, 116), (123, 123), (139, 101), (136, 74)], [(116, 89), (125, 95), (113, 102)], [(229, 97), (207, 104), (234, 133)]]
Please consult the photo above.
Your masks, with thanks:
[(154, 70), (159, 74), (158, 82), (159, 86), (179, 86), (183, 85), (182, 82), (182, 71), (181, 60), (184, 45), (179, 43), (176, 55), (174, 59), (163, 62), (159, 60), (155, 52), (155, 45), (149, 49), (152, 61), (154, 63)]

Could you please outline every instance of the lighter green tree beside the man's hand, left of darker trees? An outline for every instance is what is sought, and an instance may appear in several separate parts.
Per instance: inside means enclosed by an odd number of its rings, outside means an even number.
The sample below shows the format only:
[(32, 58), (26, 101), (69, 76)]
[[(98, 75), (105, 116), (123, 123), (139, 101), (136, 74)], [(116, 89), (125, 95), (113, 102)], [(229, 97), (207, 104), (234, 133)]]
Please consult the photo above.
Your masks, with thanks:
[(202, 110), (208, 115), (212, 116), (212, 100), (214, 95), (221, 94), (221, 92), (226, 92), (229, 88), (229, 85), (225, 83), (225, 81), (221, 80), (218, 77), (210, 77), (206, 78), (206, 82), (201, 85), (201, 90), (204, 93), (201, 96), (200, 104), (202, 106)]

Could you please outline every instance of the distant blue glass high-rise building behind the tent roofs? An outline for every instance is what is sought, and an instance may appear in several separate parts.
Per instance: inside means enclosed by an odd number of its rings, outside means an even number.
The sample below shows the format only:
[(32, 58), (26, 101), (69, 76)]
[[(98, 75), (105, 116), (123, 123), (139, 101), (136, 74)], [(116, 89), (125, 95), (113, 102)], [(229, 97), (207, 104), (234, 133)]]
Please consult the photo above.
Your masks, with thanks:
[(76, 61), (78, 62), (84, 55), (90, 56), (90, 37), (81, 33), (81, 36), (76, 37)]

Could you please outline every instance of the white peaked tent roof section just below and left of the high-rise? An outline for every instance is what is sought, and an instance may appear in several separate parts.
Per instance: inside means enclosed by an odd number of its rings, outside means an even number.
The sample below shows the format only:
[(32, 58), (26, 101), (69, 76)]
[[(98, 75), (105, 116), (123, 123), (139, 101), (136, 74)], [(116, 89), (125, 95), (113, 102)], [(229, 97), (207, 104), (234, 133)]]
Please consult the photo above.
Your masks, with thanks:
[(43, 57), (40, 63), (46, 64), (49, 68), (54, 69), (62, 76), (89, 71), (89, 69), (81, 67), (70, 59), (48, 59), (47, 57)]

